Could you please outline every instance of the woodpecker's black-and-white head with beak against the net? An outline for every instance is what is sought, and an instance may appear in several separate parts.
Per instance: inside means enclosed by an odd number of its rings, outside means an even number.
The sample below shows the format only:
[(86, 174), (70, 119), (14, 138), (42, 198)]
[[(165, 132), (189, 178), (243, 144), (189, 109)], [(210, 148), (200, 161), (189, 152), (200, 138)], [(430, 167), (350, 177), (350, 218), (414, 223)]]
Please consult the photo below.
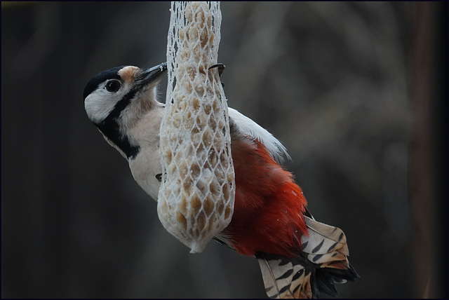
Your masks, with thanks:
[(161, 107), (156, 87), (166, 70), (165, 62), (150, 69), (115, 67), (93, 76), (84, 88), (88, 118), (128, 158), (135, 155), (128, 130), (148, 111)]

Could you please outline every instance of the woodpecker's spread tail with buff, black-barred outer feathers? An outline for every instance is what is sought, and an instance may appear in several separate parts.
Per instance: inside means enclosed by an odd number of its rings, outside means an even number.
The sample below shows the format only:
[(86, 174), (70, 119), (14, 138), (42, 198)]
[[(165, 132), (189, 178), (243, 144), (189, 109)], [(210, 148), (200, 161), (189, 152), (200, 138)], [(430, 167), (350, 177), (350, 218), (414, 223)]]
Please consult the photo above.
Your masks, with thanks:
[(335, 282), (359, 277), (347, 259), (343, 231), (307, 216), (304, 221), (309, 236), (302, 236), (297, 257), (256, 254), (269, 298), (316, 298), (320, 292), (337, 296)]

